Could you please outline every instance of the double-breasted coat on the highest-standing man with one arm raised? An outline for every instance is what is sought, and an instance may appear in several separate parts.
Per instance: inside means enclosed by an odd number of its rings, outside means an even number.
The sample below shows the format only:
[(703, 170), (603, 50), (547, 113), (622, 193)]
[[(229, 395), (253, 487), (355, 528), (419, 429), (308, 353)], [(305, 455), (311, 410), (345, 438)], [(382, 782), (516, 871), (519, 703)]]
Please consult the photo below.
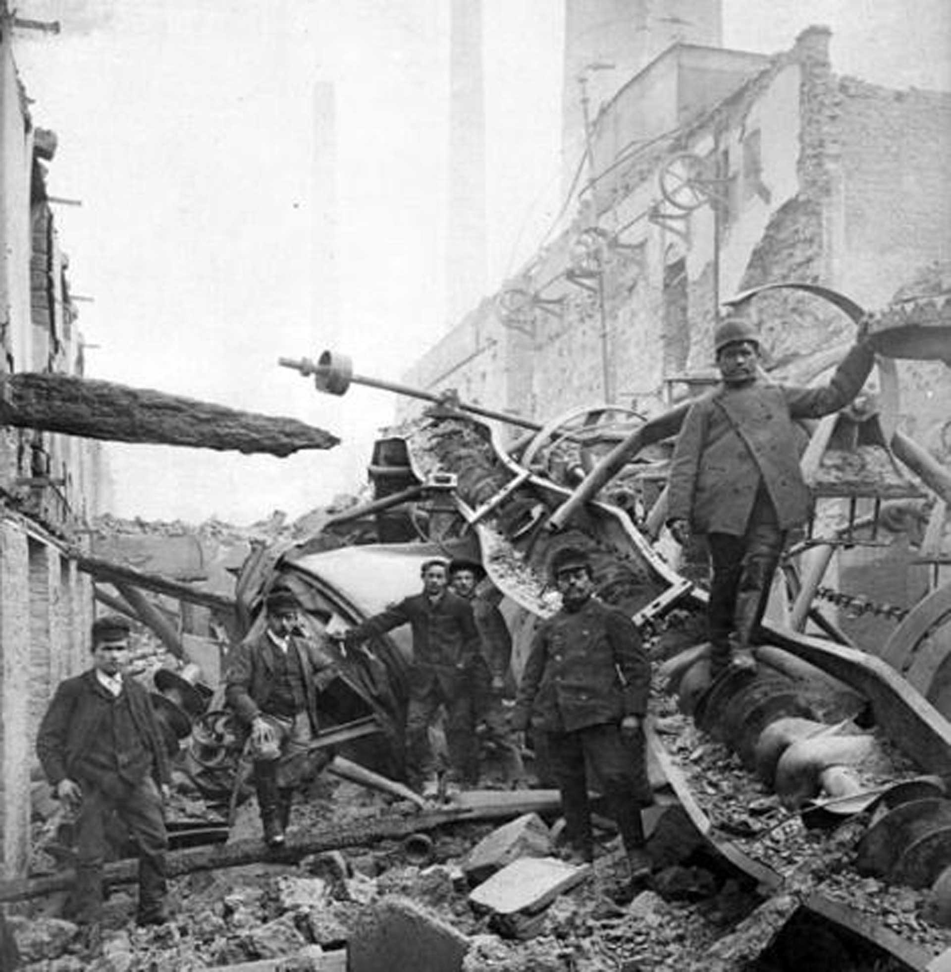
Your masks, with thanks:
[(856, 344), (823, 388), (721, 384), (696, 400), (677, 437), (667, 478), (670, 520), (696, 533), (741, 537), (761, 484), (780, 530), (801, 526), (812, 498), (799, 469), (797, 419), (819, 418), (862, 390), (874, 354)]

